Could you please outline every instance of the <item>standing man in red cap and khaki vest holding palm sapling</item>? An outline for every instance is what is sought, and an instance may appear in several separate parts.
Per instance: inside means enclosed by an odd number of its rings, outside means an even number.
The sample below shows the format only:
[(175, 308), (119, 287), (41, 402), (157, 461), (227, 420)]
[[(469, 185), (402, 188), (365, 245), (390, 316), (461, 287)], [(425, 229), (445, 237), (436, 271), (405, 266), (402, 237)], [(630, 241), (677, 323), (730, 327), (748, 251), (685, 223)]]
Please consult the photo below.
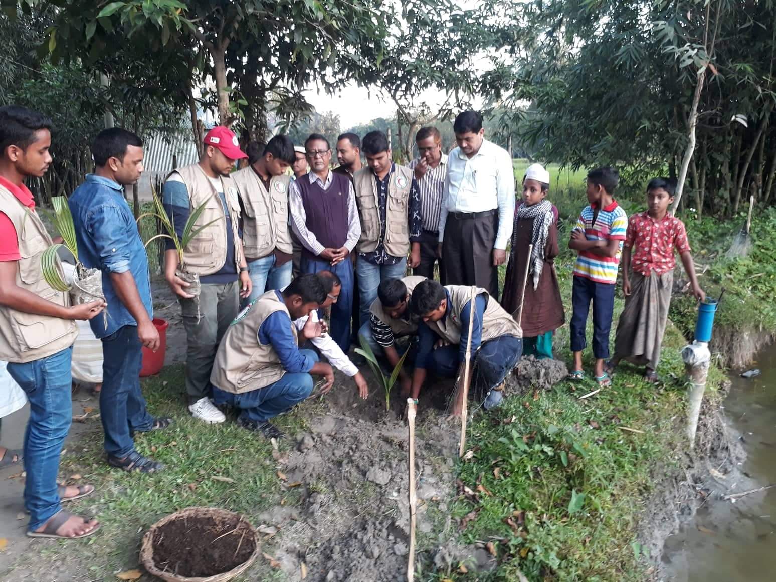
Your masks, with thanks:
[[(227, 127), (213, 127), (205, 136), (199, 163), (173, 171), (163, 189), (165, 210), (179, 238), (190, 214), (204, 208), (195, 222), (196, 236), (183, 249), (183, 265), (178, 265), (175, 244), (168, 241), (165, 279), (178, 295), (186, 328), (189, 411), (209, 423), (226, 420), (210, 401), (213, 360), (223, 334), (237, 316), (240, 297), (251, 294), (239, 230), (240, 200), (230, 178), (234, 162), (247, 157), (234, 133)], [(190, 284), (178, 277), (176, 269), (199, 275), (199, 296), (188, 292)]]

